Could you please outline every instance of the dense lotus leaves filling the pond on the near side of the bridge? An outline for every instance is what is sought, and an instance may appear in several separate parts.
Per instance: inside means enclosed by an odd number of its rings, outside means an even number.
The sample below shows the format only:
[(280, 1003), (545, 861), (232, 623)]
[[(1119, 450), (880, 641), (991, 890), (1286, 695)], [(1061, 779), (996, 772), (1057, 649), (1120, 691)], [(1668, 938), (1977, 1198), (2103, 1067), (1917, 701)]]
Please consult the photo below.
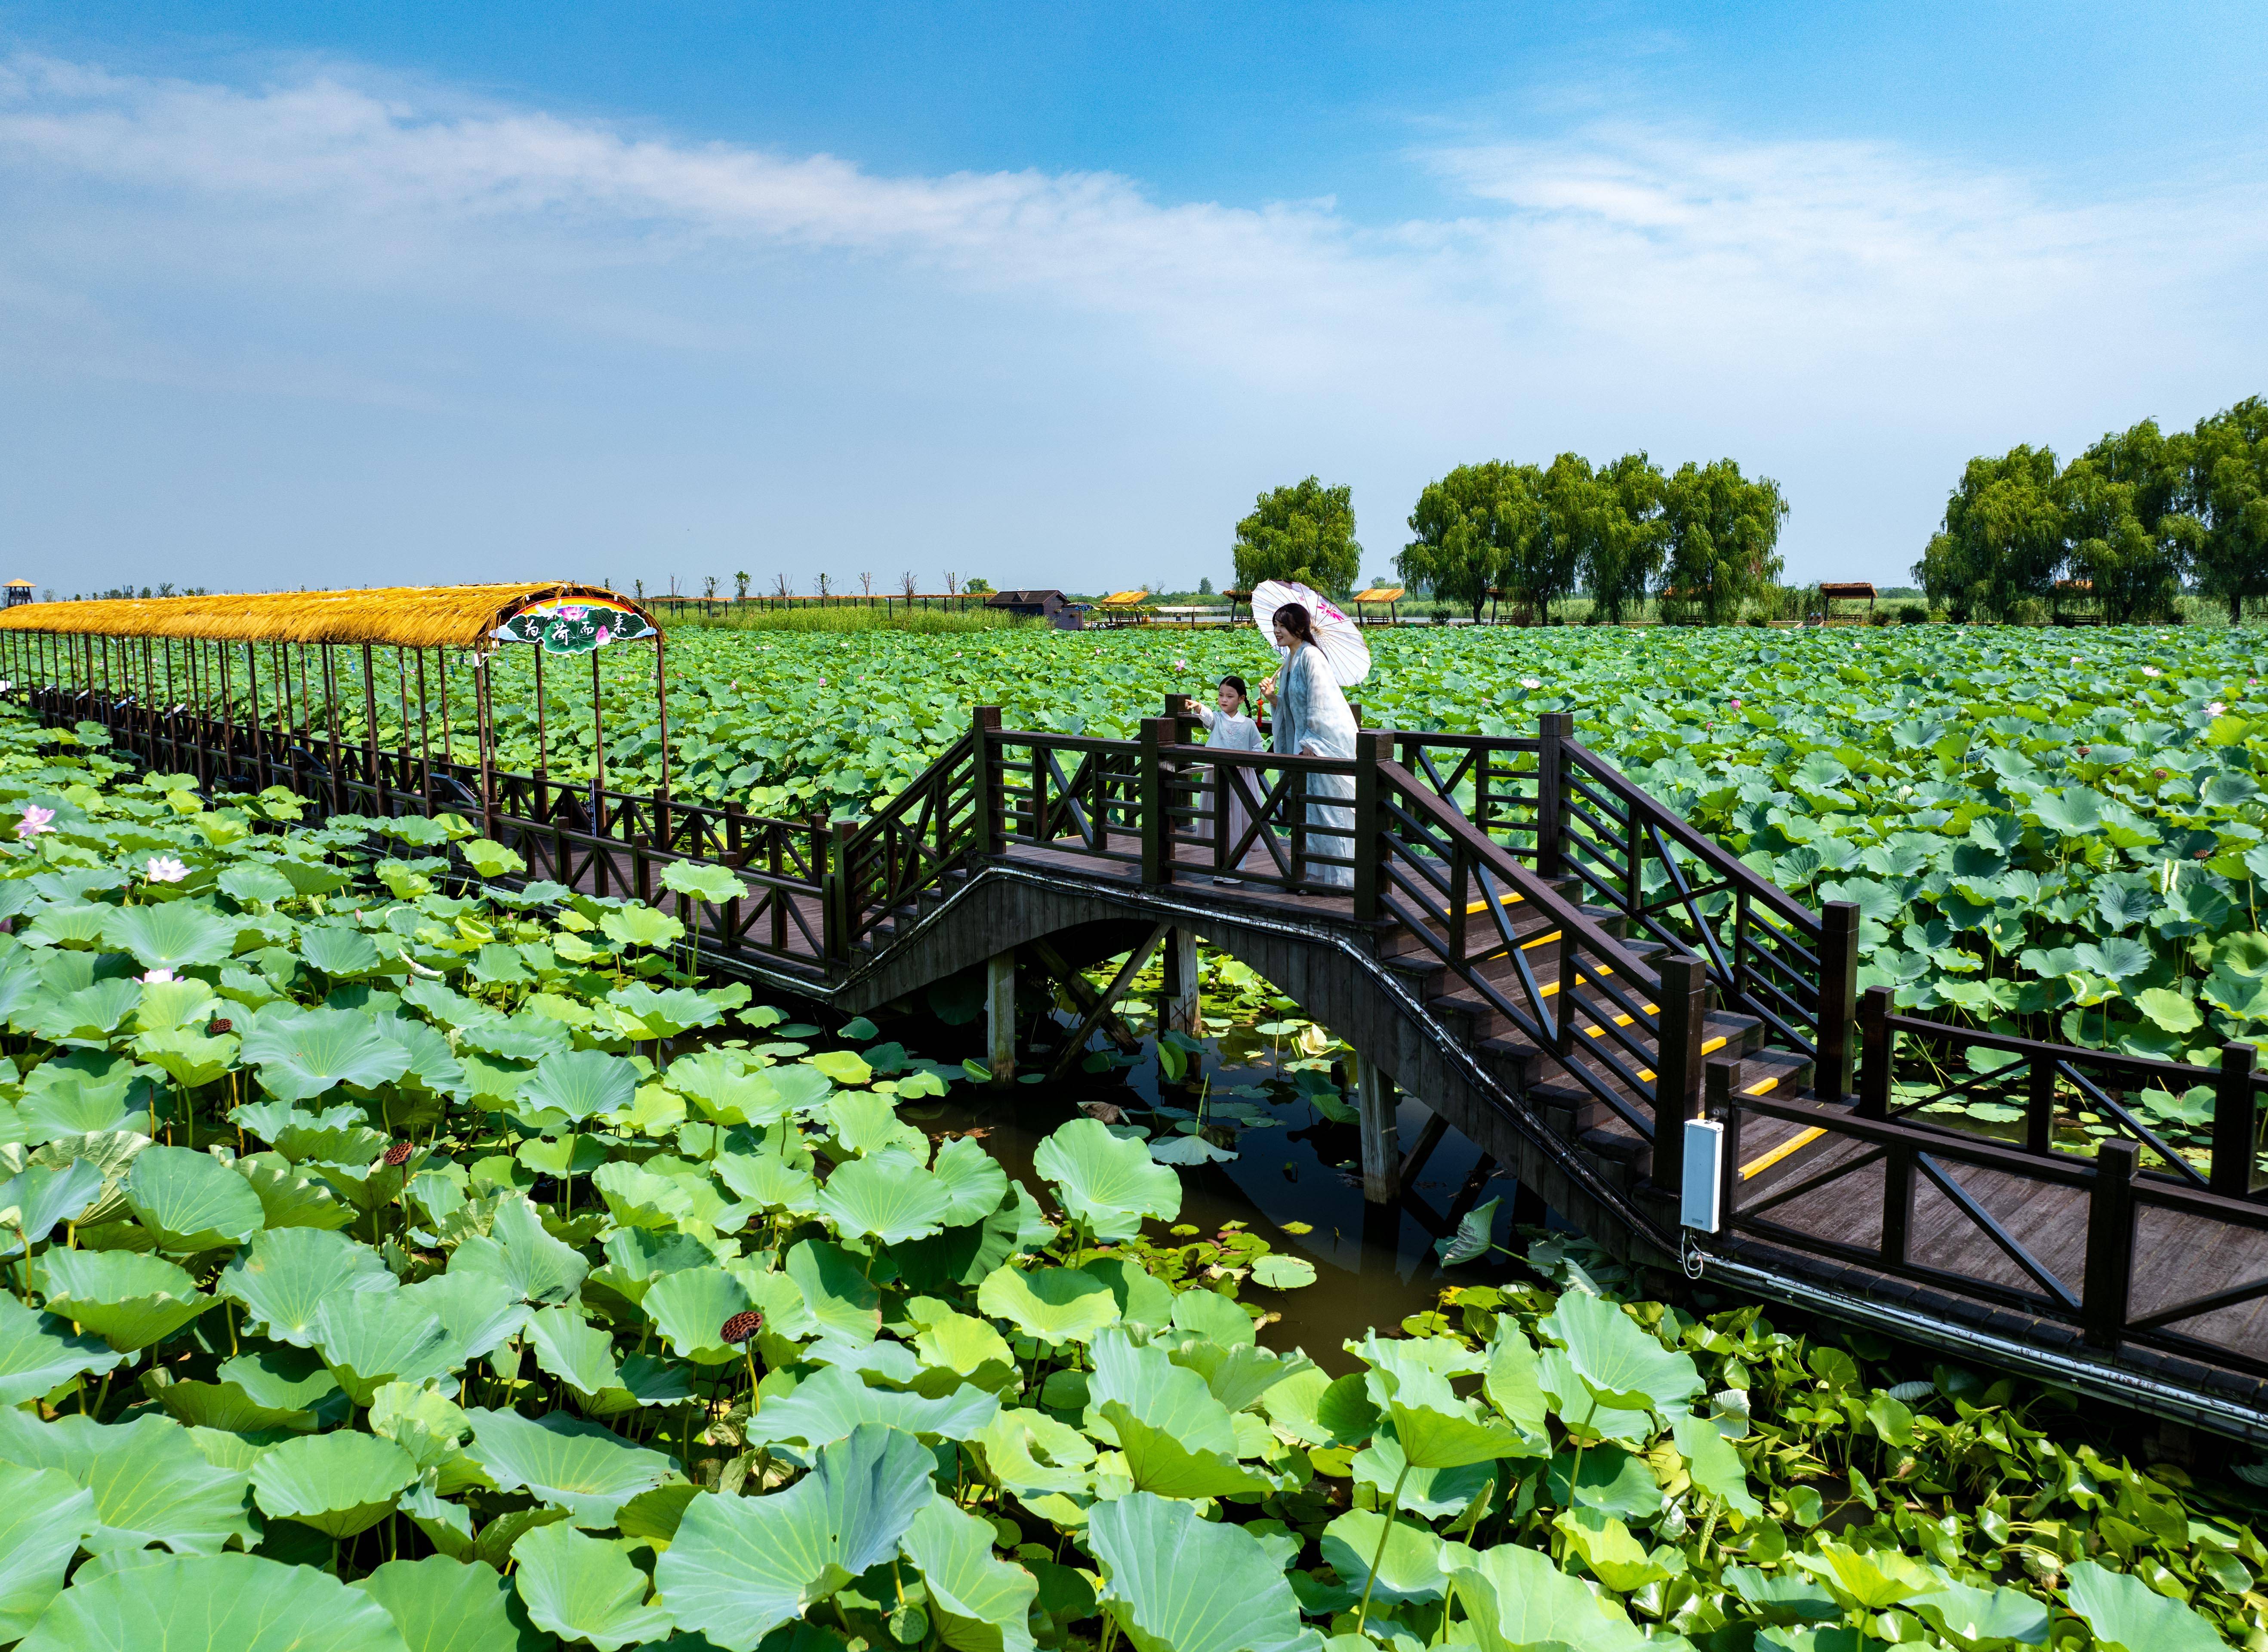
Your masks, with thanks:
[(1009, 1175), (662, 912), (95, 742), (0, 724), (0, 1643), (2268, 1645), (2250, 1470), (2071, 1396), (1565, 1234), (1320, 1364), (1188, 1119)]

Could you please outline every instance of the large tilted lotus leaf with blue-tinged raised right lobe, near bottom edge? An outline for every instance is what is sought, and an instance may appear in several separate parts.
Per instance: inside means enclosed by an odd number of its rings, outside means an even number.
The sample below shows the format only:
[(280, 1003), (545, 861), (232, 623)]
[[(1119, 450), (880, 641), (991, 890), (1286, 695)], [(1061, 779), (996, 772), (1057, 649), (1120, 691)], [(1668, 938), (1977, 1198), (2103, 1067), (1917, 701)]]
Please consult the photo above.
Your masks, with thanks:
[(694, 1498), (653, 1566), (680, 1629), (726, 1652), (794, 1622), (869, 1566), (898, 1552), (934, 1498), (934, 1457), (912, 1436), (866, 1423), (819, 1452), (816, 1468), (769, 1498)]

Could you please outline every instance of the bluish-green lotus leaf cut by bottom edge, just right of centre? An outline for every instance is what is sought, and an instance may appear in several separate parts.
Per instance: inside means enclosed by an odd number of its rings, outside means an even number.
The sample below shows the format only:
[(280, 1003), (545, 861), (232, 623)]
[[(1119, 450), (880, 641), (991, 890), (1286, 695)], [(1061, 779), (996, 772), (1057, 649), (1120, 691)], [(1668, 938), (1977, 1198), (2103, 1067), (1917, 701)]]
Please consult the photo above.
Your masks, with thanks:
[(1102, 1604), (1136, 1652), (1322, 1652), (1284, 1564), (1241, 1525), (1136, 1491), (1098, 1502), (1086, 1532)]

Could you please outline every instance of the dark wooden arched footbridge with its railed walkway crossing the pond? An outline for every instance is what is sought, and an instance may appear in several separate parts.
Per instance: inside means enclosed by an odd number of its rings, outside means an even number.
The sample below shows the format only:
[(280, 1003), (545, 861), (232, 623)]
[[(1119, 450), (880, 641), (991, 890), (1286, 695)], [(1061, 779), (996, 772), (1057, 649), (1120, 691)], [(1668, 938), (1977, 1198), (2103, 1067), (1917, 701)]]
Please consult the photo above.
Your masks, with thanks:
[[(215, 787), (476, 815), (531, 880), (674, 903), (710, 969), (841, 1012), (984, 971), (1002, 1076), (1018, 964), (1089, 1008), (1075, 1053), (1157, 949), (1191, 1014), (1202, 935), (1356, 1048), (1372, 1198), (1461, 1130), (1635, 1262), (2268, 1441), (2252, 1048), (2195, 1069), (1894, 1014), (1887, 992), (1855, 989), (1853, 908), (1812, 912), (1760, 878), (1565, 715), (1533, 740), (1374, 728), (1327, 760), (1209, 751), (1177, 699), (1136, 740), (1007, 731), (980, 708), (880, 812), (812, 824), (508, 774), (485, 742), (469, 762), (342, 742), (313, 710), (152, 703), (91, 658), (16, 672), (14, 697), (50, 722), (95, 719)], [(485, 708), (485, 678), (479, 692)], [(746, 894), (667, 894), (671, 860), (730, 867)], [(1077, 978), (1120, 953), (1111, 992)], [(1894, 1062), (1944, 1087), (1894, 1085)], [(2130, 1105), (2198, 1082), (2216, 1094), (2209, 1150)], [(1395, 1087), (1431, 1110), (1417, 1141), (1393, 1137)], [(1989, 1135), (1926, 1112), (1946, 1098), (1998, 1098), (2021, 1123)], [(1715, 1232), (1678, 1221), (1674, 1144), (1696, 1116), (1728, 1139)], [(2093, 1153), (2059, 1146), (2084, 1126)]]

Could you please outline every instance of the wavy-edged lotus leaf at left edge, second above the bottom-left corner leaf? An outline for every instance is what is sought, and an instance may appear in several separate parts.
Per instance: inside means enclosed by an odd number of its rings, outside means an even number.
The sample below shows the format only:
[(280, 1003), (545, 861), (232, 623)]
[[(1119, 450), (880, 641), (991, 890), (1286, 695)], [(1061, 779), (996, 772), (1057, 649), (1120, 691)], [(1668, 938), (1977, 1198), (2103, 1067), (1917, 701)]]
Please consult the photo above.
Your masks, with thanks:
[(95, 1495), (100, 1527), (84, 1541), (93, 1554), (150, 1543), (175, 1554), (218, 1554), (229, 1539), (254, 1541), (245, 1475), (215, 1468), (188, 1430), (163, 1416), (109, 1425), (0, 1411), (0, 1459), (59, 1468)]

